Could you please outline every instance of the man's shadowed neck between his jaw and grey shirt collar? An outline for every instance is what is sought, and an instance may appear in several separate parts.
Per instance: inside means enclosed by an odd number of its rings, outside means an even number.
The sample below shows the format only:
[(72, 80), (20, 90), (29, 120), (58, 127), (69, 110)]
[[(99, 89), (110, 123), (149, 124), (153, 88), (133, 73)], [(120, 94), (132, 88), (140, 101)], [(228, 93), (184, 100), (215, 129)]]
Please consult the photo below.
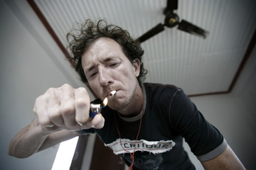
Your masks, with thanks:
[(144, 103), (144, 96), (141, 86), (137, 86), (132, 101), (127, 105), (127, 107), (122, 108), (118, 111), (125, 118), (132, 118), (141, 113)]

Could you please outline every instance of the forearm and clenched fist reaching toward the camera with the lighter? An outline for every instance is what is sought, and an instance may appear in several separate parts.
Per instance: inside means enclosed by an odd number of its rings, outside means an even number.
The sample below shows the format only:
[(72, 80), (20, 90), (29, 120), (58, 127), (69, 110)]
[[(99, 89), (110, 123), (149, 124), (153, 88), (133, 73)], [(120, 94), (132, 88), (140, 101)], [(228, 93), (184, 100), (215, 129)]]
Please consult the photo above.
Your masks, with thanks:
[(36, 98), (33, 108), (36, 119), (11, 140), (9, 154), (18, 158), (29, 157), (78, 136), (76, 130), (92, 126), (102, 128), (105, 119), (101, 114), (89, 119), (89, 110), (90, 97), (85, 88), (73, 89), (69, 84), (49, 88)]

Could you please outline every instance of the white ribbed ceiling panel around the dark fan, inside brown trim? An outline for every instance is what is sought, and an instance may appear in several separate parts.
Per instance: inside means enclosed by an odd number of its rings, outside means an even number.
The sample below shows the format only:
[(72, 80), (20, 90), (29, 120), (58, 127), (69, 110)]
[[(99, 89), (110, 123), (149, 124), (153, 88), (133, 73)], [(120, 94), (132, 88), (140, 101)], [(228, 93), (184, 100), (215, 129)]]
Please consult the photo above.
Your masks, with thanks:
[[(134, 38), (164, 23), (166, 0), (35, 0), (64, 46), (75, 22), (107, 19)], [(146, 81), (175, 84), (186, 94), (228, 91), (256, 28), (254, 0), (180, 0), (176, 13), (210, 32), (206, 39), (175, 28), (142, 43)]]

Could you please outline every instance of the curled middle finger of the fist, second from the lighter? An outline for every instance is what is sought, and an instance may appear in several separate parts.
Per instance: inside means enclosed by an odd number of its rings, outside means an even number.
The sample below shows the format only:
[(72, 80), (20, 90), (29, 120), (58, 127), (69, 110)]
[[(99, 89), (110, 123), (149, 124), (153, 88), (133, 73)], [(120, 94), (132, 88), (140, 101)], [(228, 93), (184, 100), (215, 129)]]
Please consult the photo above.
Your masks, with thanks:
[(65, 126), (73, 127), (77, 123), (75, 122), (75, 96), (74, 89), (68, 84), (64, 84), (60, 88), (60, 113), (63, 117)]

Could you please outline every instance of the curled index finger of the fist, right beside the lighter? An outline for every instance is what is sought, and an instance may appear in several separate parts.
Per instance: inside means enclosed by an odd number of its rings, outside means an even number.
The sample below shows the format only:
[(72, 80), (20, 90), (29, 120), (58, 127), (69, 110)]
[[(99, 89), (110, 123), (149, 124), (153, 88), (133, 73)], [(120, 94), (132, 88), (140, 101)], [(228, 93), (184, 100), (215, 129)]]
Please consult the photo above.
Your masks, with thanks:
[(89, 118), (90, 97), (85, 88), (75, 89), (75, 121), (85, 124)]

